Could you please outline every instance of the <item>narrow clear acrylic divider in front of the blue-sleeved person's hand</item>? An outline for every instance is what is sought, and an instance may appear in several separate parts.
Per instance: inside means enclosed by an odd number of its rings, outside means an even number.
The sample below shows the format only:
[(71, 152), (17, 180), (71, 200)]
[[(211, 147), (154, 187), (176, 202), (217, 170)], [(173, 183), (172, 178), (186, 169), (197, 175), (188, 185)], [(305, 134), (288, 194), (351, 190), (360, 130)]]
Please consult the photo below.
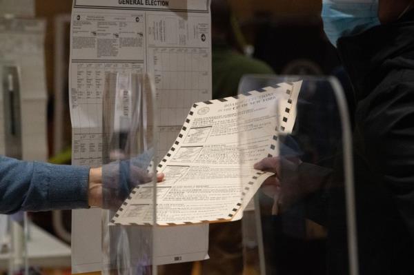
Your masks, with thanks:
[[(123, 213), (147, 213), (147, 225), (112, 225), (137, 186), (156, 183), (155, 90), (148, 74), (106, 74), (103, 94), (103, 274), (156, 274), (153, 240), (156, 185), (148, 205)], [(141, 208), (139, 208), (141, 207)]]

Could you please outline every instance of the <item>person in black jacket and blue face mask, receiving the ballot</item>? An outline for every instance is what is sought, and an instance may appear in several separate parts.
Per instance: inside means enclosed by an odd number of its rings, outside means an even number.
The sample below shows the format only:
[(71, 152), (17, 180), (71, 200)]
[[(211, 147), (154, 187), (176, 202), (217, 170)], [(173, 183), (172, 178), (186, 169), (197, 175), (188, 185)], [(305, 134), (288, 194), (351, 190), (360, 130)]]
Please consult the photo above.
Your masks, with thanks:
[[(414, 1), (323, 2), (326, 34), (354, 90), (359, 274), (414, 274)], [(279, 172), (280, 166), (264, 159), (255, 167)], [(322, 178), (333, 181), (328, 174)], [(311, 192), (327, 184), (321, 179)], [(279, 184), (276, 198), (286, 194), (283, 189)], [(330, 193), (322, 221), (328, 274), (349, 274), (346, 223), (330, 226), (343, 213), (343, 195)], [(276, 204), (287, 211), (292, 201)]]

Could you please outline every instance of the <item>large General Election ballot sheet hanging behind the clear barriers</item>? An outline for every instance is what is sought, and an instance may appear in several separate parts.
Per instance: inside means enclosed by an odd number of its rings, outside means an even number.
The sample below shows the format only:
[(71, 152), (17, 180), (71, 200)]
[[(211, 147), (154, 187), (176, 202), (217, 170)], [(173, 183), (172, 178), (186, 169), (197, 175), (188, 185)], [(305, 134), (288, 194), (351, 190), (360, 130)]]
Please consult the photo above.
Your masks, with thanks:
[[(69, 88), (74, 165), (102, 164), (106, 72), (154, 77), (159, 103), (158, 154), (168, 152), (193, 103), (211, 98), (210, 21), (209, 0), (73, 2)], [(208, 227), (203, 226), (204, 230), (188, 227), (186, 232), (175, 232), (175, 238), (185, 234), (183, 238), (194, 238), (195, 243), (208, 243)], [(96, 234), (100, 230), (99, 210), (73, 213), (72, 272), (100, 270), (101, 236)]]

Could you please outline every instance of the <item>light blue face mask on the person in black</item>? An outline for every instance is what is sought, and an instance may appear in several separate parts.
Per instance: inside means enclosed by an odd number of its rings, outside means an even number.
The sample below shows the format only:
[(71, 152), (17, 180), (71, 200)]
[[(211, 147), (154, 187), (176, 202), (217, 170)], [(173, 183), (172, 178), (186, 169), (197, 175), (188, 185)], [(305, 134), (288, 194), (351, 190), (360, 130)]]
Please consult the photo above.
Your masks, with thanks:
[(378, 0), (322, 0), (322, 19), (329, 41), (380, 25)]

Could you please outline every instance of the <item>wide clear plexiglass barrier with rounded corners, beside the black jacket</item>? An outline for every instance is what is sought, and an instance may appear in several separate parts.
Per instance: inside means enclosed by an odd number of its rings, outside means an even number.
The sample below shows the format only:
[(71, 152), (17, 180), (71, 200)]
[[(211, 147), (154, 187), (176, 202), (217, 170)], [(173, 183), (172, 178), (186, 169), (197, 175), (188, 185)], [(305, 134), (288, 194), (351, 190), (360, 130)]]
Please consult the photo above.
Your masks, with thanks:
[[(239, 145), (264, 141), (266, 131), (255, 128), (273, 116), (266, 157), (255, 164), (256, 177), (273, 176), (244, 211), (244, 270), (358, 274), (351, 127), (341, 85), (333, 78), (244, 77), (239, 98), (250, 104), (256, 94), (262, 94), (257, 103), (268, 101), (277, 111), (256, 121), (239, 119), (239, 128), (249, 125), (239, 133)], [(241, 156), (251, 165), (251, 154)]]

